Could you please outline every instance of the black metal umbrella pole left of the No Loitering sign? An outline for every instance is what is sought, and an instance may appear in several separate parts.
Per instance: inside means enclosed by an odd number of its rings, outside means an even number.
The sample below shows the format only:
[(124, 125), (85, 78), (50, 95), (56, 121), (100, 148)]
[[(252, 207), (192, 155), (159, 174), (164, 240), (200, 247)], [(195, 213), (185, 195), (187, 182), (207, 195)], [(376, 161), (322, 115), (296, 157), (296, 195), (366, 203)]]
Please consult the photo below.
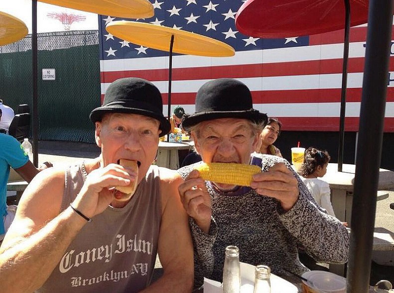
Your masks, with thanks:
[(33, 88), (33, 164), (38, 166), (38, 98), (37, 98), (37, 68), (38, 68), (38, 50), (37, 50), (37, 0), (31, 1), (31, 68), (32, 68), (32, 88)]

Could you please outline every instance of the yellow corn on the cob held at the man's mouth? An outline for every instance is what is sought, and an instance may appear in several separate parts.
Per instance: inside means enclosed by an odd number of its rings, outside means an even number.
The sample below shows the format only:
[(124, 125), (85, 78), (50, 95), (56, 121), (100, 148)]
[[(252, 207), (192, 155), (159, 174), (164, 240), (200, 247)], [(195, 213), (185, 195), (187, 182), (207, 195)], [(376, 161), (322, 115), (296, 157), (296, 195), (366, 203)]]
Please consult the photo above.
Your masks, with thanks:
[(196, 169), (205, 180), (239, 186), (250, 186), (252, 176), (261, 172), (259, 166), (236, 163), (202, 163)]

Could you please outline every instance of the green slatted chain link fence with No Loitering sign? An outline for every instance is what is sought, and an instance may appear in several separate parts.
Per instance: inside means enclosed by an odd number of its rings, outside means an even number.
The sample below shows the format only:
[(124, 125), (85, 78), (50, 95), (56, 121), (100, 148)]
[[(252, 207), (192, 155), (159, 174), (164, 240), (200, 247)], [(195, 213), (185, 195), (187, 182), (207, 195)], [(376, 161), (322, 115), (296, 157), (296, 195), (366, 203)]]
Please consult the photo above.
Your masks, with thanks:
[[(90, 111), (100, 105), (97, 30), (37, 34), (39, 140), (94, 142)], [(31, 35), (0, 46), (0, 97), (16, 112), (32, 109)], [(55, 80), (42, 80), (42, 69), (55, 69)]]

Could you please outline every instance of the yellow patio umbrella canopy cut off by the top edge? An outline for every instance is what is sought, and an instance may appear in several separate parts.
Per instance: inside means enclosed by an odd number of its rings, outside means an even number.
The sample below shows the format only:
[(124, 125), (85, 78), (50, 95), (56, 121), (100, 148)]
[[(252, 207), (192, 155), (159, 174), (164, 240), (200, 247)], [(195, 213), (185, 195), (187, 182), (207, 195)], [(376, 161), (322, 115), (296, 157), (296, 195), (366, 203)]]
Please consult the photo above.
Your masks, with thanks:
[(39, 0), (57, 6), (127, 18), (152, 17), (154, 8), (149, 0)]

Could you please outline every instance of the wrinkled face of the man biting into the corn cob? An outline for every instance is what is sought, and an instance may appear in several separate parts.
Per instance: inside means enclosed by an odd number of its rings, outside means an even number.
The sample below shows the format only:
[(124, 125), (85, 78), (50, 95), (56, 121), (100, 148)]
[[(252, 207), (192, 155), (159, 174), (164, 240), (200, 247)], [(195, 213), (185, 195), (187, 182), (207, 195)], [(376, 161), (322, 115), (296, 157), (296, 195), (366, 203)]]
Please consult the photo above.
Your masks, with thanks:
[(251, 122), (246, 119), (221, 118), (199, 123), (198, 137), (194, 132), (192, 136), (197, 152), (206, 163), (249, 164), (259, 134), (254, 134)]

